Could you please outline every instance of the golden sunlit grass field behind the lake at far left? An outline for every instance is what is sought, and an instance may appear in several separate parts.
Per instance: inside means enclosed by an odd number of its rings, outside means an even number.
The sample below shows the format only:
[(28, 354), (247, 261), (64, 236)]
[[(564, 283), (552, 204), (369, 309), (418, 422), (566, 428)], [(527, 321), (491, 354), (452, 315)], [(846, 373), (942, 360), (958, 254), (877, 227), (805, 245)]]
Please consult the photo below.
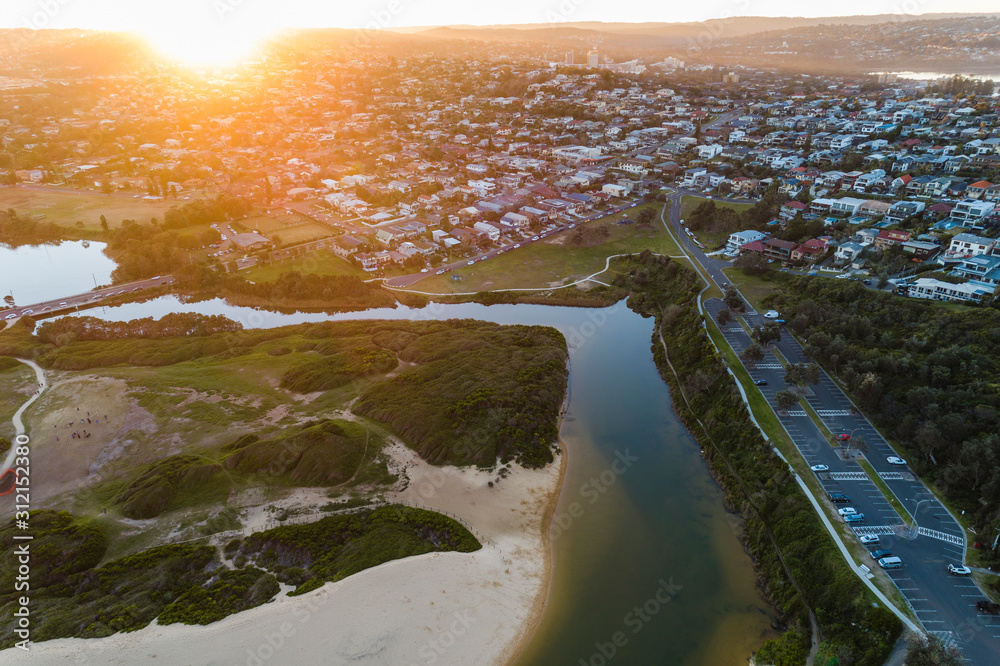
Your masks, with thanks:
[(181, 203), (184, 202), (173, 199), (144, 201), (98, 193), (40, 192), (0, 187), (0, 210), (13, 208), (18, 213), (44, 215), (42, 219), (45, 221), (65, 226), (76, 226), (77, 222), (82, 222), (83, 228), (88, 231), (100, 230), (101, 215), (112, 228), (121, 226), (122, 220), (149, 222), (155, 217), (162, 221), (168, 209)]

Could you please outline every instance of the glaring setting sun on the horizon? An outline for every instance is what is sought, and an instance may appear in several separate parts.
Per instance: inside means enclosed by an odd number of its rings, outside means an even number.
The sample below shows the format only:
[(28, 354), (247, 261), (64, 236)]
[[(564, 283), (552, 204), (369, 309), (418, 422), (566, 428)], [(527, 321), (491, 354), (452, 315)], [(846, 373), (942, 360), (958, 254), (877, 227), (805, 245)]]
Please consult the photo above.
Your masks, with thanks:
[(163, 57), (193, 67), (232, 66), (260, 51), (265, 31), (223, 26), (186, 26), (184, 30), (146, 31), (145, 37)]

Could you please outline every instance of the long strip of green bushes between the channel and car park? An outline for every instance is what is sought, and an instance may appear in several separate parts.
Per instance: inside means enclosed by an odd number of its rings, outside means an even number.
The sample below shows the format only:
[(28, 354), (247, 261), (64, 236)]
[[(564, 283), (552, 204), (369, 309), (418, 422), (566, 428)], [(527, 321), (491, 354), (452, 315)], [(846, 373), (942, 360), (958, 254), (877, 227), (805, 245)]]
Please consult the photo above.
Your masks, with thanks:
[[(849, 570), (788, 465), (750, 421), (733, 379), (702, 327), (696, 306), (702, 283), (690, 269), (648, 252), (620, 261), (616, 268), (620, 274), (613, 284), (631, 292), (629, 307), (656, 318), (653, 357), (660, 374), (670, 385), (681, 419), (704, 447), (727, 501), (743, 516), (747, 546), (790, 626), (779, 640), (765, 644), (758, 660), (804, 664), (812, 609), (824, 639), (817, 663), (834, 659), (871, 666), (884, 663), (902, 624), (889, 610), (872, 604), (867, 588)], [(659, 332), (669, 349), (669, 363)]]

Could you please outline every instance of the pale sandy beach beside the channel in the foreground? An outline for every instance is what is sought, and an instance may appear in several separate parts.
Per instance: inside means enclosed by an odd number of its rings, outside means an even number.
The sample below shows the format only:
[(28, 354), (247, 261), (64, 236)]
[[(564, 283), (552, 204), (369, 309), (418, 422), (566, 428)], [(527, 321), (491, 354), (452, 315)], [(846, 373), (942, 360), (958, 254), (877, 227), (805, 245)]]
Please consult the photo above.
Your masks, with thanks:
[[(505, 664), (531, 635), (551, 573), (548, 522), (565, 454), (507, 478), (437, 468), (399, 444), (388, 449), (409, 484), (390, 499), (458, 516), (484, 547), (368, 569), (299, 597), (209, 626), (155, 623), (101, 639), (58, 639), (0, 664)], [(494, 482), (490, 488), (488, 483)]]

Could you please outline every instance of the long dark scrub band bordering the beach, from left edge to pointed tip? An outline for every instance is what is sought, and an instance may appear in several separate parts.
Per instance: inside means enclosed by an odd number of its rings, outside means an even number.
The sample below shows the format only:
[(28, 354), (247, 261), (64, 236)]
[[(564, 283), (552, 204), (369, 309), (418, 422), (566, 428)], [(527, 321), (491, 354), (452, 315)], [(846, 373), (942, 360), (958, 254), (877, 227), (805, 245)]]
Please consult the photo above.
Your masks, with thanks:
[[(97, 523), (63, 511), (32, 511), (31, 640), (100, 638), (159, 624), (208, 624), (259, 606), (280, 588), (274, 574), (306, 592), (384, 562), (429, 552), (473, 552), (482, 546), (454, 520), (430, 511), (388, 506), (308, 525), (278, 527), (231, 542), (236, 568), (211, 546), (174, 544), (98, 566), (108, 540)], [(13, 520), (0, 529), (10, 542)], [(13, 549), (0, 569), (0, 649), (18, 640), (20, 607)], [(286, 562), (287, 564), (283, 564)]]

